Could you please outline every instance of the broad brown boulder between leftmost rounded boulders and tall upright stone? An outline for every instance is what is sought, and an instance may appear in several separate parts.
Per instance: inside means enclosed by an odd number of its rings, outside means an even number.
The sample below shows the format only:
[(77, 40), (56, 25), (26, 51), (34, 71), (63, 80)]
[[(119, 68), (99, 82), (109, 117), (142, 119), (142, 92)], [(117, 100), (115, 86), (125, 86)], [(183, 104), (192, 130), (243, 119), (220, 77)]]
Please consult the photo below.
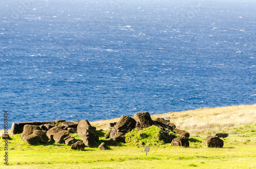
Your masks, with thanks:
[(67, 130), (61, 129), (61, 127), (55, 126), (47, 131), (46, 135), (48, 138), (55, 140), (56, 142), (63, 144), (65, 143), (64, 138), (69, 136)]

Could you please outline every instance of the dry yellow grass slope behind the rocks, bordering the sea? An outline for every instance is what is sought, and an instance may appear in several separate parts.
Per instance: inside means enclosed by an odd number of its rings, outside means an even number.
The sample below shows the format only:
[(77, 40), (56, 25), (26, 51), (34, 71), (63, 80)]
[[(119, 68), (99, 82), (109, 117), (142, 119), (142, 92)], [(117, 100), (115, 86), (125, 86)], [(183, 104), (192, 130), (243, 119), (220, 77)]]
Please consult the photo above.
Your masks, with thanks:
[[(170, 122), (178, 129), (186, 130), (191, 135), (204, 135), (220, 132), (226, 127), (238, 124), (256, 124), (256, 104), (227, 106), (217, 108), (200, 108), (181, 112), (169, 112), (152, 115), (152, 119), (169, 116)], [(119, 118), (90, 122), (97, 129), (108, 129), (108, 124), (118, 122)]]

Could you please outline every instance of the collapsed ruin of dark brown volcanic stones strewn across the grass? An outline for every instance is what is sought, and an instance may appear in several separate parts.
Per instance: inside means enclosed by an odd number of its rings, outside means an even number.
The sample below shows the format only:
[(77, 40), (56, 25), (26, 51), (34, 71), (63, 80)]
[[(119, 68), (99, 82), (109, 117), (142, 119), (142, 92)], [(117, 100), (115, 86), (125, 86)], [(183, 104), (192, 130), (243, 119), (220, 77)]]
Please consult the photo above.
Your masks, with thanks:
[[(150, 113), (135, 113), (133, 117), (122, 115), (117, 123), (110, 123), (110, 132), (105, 134), (108, 139), (99, 146), (100, 150), (109, 150), (108, 145), (115, 146), (117, 142), (125, 142), (125, 134), (133, 129), (142, 130), (152, 125), (159, 127), (162, 132), (160, 139), (164, 142), (171, 142), (171, 146), (189, 147), (189, 133), (184, 130), (177, 129), (176, 126), (169, 121), (169, 117), (152, 119)], [(180, 137), (175, 138), (169, 131), (179, 134)], [(83, 150), (84, 147), (95, 147), (99, 141), (96, 128), (92, 127), (88, 120), (74, 120), (66, 122), (65, 120), (56, 120), (50, 122), (28, 122), (17, 123), (12, 125), (11, 134), (22, 132), (22, 140), (29, 144), (37, 144), (38, 142), (47, 143), (49, 140), (60, 144), (66, 143), (74, 150)], [(69, 136), (69, 133), (78, 133), (82, 141), (77, 141)], [(223, 140), (219, 137), (227, 137), (226, 133), (219, 133), (215, 136), (208, 136), (205, 139), (205, 146), (209, 148), (222, 148)]]

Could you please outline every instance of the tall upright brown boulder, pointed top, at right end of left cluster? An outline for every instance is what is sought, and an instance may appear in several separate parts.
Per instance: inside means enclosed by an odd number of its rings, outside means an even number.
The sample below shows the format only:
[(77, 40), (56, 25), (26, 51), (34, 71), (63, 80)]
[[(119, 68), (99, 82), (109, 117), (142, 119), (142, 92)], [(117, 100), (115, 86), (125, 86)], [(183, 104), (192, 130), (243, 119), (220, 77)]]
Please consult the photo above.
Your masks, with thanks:
[(89, 147), (95, 147), (95, 142), (99, 141), (96, 129), (92, 127), (86, 119), (79, 122), (77, 126), (77, 134), (82, 137), (83, 143)]

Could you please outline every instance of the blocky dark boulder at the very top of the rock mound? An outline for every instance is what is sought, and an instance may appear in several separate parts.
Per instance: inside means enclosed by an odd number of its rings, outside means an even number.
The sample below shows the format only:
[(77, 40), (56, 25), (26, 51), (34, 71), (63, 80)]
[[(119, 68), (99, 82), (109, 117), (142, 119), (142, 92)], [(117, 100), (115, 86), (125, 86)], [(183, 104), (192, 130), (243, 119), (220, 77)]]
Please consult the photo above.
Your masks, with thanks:
[(151, 119), (150, 113), (143, 112), (143, 113), (135, 113), (133, 115), (133, 118), (136, 120), (136, 122), (139, 122), (142, 128), (148, 128), (151, 127), (154, 122)]

